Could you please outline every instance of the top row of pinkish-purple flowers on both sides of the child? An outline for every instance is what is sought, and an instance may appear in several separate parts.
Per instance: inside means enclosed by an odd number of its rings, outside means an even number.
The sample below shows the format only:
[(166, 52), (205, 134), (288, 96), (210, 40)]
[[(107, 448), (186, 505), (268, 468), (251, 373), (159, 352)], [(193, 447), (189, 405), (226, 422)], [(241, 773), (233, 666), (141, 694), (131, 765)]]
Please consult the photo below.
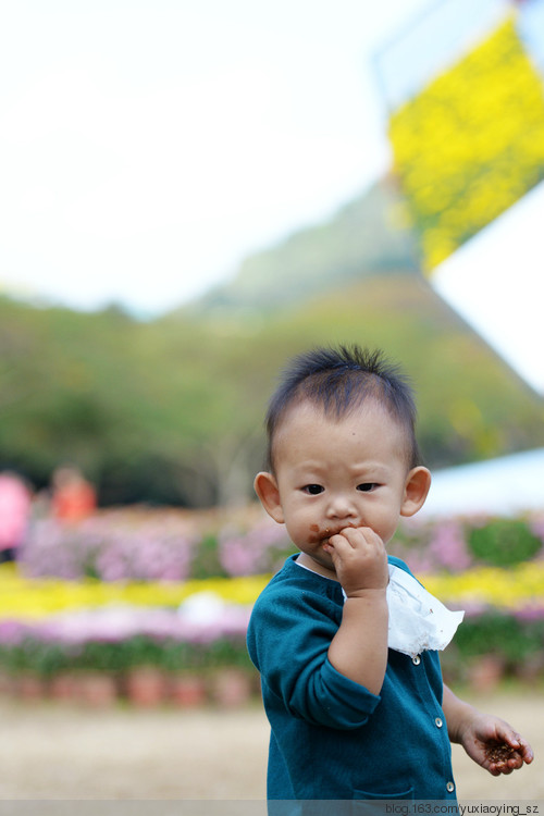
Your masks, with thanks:
[[(544, 515), (405, 519), (390, 545), (417, 574), (544, 560)], [(294, 547), (260, 508), (233, 514), (111, 510), (78, 524), (36, 521), (20, 556), (27, 578), (95, 578), (104, 584), (275, 572)]]

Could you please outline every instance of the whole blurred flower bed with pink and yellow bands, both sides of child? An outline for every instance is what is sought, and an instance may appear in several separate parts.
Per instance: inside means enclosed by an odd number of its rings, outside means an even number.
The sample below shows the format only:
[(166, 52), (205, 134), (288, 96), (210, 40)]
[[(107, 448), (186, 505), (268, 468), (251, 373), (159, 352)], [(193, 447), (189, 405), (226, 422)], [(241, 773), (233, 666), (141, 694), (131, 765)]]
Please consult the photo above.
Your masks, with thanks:
[[(470, 680), (477, 658), (490, 654), (503, 675), (542, 676), (543, 535), (541, 517), (400, 527), (391, 552), (447, 606), (467, 610), (444, 654), (450, 681)], [(136, 670), (148, 670), (149, 685), (151, 667), (156, 685), (162, 678), (156, 698), (210, 700), (225, 688), (220, 675), (228, 668), (238, 695), (255, 690), (247, 621), (289, 552), (283, 529), (256, 508), (228, 519), (131, 510), (81, 526), (39, 522), (20, 565), (0, 567), (3, 685), (22, 678), (29, 694), (39, 680), (55, 694), (67, 675), (88, 680), (99, 671), (113, 680), (114, 696), (129, 696)], [(182, 677), (193, 685), (184, 688)]]

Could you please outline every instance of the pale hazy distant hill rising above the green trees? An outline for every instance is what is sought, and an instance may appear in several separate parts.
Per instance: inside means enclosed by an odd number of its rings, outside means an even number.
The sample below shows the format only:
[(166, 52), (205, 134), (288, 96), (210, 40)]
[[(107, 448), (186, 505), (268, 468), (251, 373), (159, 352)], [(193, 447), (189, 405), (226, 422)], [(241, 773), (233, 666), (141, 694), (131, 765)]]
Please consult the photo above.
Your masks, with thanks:
[(329, 221), (247, 258), (195, 306), (269, 311), (376, 272), (417, 271), (418, 244), (405, 222), (395, 183), (383, 178)]

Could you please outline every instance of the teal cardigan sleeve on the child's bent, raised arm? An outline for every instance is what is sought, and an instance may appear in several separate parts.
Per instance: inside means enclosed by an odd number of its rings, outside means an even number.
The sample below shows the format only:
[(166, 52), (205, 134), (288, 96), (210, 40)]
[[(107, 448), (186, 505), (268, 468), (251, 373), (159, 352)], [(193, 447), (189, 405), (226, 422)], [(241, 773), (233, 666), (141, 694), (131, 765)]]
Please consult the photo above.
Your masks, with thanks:
[(248, 650), (269, 705), (336, 729), (368, 721), (380, 697), (329, 662), (341, 619), (342, 607), (311, 592), (261, 595), (249, 623)]

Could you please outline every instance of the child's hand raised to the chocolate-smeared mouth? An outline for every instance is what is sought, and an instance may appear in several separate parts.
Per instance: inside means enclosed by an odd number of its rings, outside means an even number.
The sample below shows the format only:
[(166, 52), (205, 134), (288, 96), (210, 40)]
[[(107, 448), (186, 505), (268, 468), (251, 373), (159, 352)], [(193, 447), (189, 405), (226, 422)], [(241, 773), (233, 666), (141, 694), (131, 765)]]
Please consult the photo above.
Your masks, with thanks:
[(387, 586), (385, 546), (369, 527), (345, 528), (329, 539), (324, 549), (331, 554), (336, 577), (348, 597)]

